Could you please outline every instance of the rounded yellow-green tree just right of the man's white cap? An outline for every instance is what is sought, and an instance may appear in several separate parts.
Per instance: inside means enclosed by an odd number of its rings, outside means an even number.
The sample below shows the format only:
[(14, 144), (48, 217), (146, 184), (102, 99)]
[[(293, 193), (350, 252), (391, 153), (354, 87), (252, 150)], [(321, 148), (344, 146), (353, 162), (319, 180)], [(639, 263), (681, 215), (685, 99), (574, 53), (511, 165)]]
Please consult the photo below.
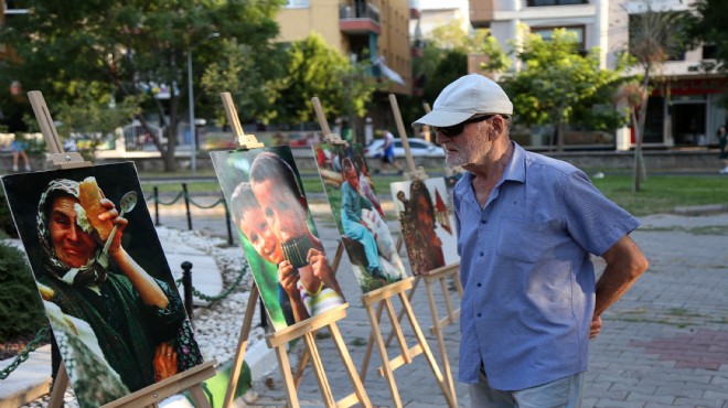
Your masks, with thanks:
[(625, 120), (623, 112), (596, 107), (612, 103), (622, 66), (615, 71), (599, 67), (598, 50), (582, 55), (576, 35), (564, 29), (549, 40), (529, 34), (516, 51), (524, 68), (503, 76), (514, 115), (525, 125), (553, 124), (558, 151), (564, 150), (564, 128), (575, 119), (615, 129)]

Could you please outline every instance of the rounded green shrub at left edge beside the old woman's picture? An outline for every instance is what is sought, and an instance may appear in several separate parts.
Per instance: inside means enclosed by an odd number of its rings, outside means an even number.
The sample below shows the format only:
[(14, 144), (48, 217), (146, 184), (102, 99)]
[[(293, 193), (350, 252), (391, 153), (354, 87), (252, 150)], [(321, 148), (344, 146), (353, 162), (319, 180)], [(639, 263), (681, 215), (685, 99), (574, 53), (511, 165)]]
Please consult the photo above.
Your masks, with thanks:
[(25, 255), (2, 238), (0, 233), (0, 343), (49, 324)]

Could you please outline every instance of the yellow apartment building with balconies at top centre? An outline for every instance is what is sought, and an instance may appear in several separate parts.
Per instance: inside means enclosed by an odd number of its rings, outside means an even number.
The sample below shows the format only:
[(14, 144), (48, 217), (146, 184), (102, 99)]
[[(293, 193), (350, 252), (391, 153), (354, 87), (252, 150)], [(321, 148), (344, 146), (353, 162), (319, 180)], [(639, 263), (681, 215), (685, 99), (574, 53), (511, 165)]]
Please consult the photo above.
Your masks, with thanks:
[(408, 0), (288, 0), (278, 14), (279, 40), (314, 31), (356, 61), (368, 53), (374, 74), (390, 79), (384, 92), (410, 95), (409, 15)]

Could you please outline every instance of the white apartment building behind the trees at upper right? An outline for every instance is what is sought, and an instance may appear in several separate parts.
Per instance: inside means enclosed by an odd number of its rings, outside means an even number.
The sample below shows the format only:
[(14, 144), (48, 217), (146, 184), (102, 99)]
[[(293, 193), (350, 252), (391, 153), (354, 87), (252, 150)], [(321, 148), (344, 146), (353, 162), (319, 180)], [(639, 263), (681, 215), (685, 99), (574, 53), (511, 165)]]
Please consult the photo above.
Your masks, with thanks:
[[(694, 0), (652, 0), (657, 11), (688, 12)], [(507, 51), (523, 41), (520, 25), (548, 37), (554, 29), (577, 34), (582, 50), (600, 49), (603, 67), (614, 67), (617, 53), (629, 47), (630, 22), (646, 10), (644, 0), (470, 0), (474, 28), (489, 28)], [(649, 101), (646, 147), (702, 147), (717, 143), (715, 131), (726, 122), (721, 105), (725, 75), (706, 74), (700, 62), (710, 60), (710, 46), (672, 55), (653, 72)], [(515, 64), (515, 62), (514, 62)], [(514, 66), (516, 69), (517, 65)], [(617, 146), (629, 148), (633, 137)]]

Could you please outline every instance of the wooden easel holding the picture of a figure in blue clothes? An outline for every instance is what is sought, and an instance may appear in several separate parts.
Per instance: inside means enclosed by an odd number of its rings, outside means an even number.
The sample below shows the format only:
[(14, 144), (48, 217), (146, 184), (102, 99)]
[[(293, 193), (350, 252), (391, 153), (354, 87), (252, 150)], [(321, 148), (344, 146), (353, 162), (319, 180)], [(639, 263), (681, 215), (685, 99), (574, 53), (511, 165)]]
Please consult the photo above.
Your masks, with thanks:
[[(313, 104), (313, 108), (315, 109), (317, 117), (321, 125), (321, 129), (324, 133), (324, 138), (330, 142), (343, 143), (342, 141), (340, 141), (340, 138), (336, 135), (331, 133), (329, 124), (325, 119), (323, 108), (321, 107), (321, 103), (319, 98), (318, 97), (311, 98), (311, 103)], [(406, 149), (408, 149), (406, 139), (403, 139), (403, 143), (405, 143)], [(415, 165), (414, 165), (414, 161), (411, 160), (411, 155), (409, 157), (408, 163), (410, 164), (410, 169), (414, 169)], [(421, 168), (419, 170), (414, 170), (413, 173), (418, 173), (418, 172), (422, 172)], [(400, 244), (398, 243), (398, 246)], [(339, 266), (339, 260), (342, 253), (343, 253), (343, 243), (340, 241), (339, 248), (336, 250), (336, 256), (338, 256), (338, 258), (335, 259), (336, 266)], [(419, 324), (417, 323), (417, 319), (415, 318), (415, 314), (409, 304), (409, 299), (405, 294), (405, 291), (407, 291), (411, 287), (413, 287), (413, 278), (407, 278), (399, 282), (388, 284), (384, 288), (373, 290), (362, 296), (362, 303), (366, 308), (366, 312), (370, 318), (370, 323), (372, 324), (372, 331), (370, 333), (370, 340), (367, 343), (366, 353), (362, 362), (362, 368), (360, 369), (362, 380), (366, 378), (366, 372), (368, 368), (368, 361), (371, 358), (373, 344), (376, 342), (379, 350), (379, 356), (382, 358), (382, 366), (378, 369), (378, 374), (379, 376), (385, 377), (385, 379), (387, 380), (395, 407), (400, 408), (403, 406), (402, 399), (399, 398), (399, 391), (397, 389), (397, 384), (393, 373), (395, 369), (403, 366), (404, 364), (411, 363), (413, 358), (416, 357), (417, 355), (425, 354), (427, 362), (429, 363), (430, 368), (432, 369), (432, 374), (435, 375), (435, 379), (440, 386), (440, 390), (442, 391), (447, 405), (449, 407), (457, 407), (450, 390), (445, 384), (442, 374), (440, 373), (440, 368), (438, 367), (437, 362), (435, 361), (435, 357), (432, 356), (432, 353), (430, 352), (430, 348), (427, 345), (427, 341), (422, 335)], [(405, 340), (404, 333), (402, 331), (400, 319), (397, 319), (397, 316), (395, 315), (394, 307), (392, 305), (392, 298), (394, 297), (399, 297), (399, 299), (402, 300), (403, 313), (407, 314), (413, 331), (415, 332), (417, 344), (413, 347), (409, 347), (407, 345), (407, 341)], [(374, 311), (375, 305), (377, 305), (376, 312)], [(399, 343), (399, 347), (402, 350), (402, 353), (398, 356), (394, 357), (393, 359), (389, 359), (387, 355), (387, 347), (384, 343), (384, 339), (382, 336), (382, 330), (379, 328), (382, 311), (384, 309), (387, 310), (389, 320), (392, 321), (393, 335), (396, 335), (397, 341)]]

